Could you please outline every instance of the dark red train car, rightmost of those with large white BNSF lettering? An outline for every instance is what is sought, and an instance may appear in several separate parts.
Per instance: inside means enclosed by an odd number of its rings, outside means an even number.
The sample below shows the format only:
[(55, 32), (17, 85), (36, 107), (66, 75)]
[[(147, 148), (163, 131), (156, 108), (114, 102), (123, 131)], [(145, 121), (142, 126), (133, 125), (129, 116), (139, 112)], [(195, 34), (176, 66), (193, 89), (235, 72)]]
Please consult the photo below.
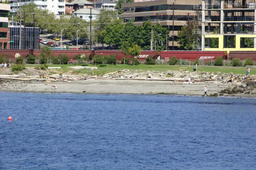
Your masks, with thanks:
[(219, 56), (226, 59), (225, 51), (161, 51), (160, 56), (164, 61), (169, 61), (173, 56), (176, 56), (177, 59), (192, 61), (196, 59), (215, 60)]

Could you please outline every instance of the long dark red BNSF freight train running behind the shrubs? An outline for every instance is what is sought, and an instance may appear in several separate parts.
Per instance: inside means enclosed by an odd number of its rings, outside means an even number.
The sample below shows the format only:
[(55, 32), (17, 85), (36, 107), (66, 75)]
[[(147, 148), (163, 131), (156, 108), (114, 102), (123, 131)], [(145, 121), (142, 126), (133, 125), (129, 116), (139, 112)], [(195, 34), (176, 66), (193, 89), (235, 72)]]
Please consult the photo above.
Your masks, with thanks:
[[(15, 60), (15, 54), (20, 54), (22, 57), (26, 58), (28, 54), (33, 54), (35, 56), (41, 53), (41, 50), (14, 50), (14, 49), (6, 49), (0, 50), (0, 55), (7, 54), (11, 61)], [(69, 58), (73, 58), (75, 55), (86, 54), (92, 59), (93, 55), (116, 55), (117, 60), (120, 61), (124, 56), (132, 58), (131, 56), (124, 55), (119, 50), (52, 50), (54, 56), (58, 56), (59, 54), (66, 54)], [(230, 52), (231, 53), (231, 52)], [(229, 53), (229, 54), (230, 54)], [(253, 52), (252, 52), (253, 53)], [(232, 53), (233, 55), (233, 53)], [(159, 57), (157, 55), (157, 51), (141, 51), (140, 55), (137, 56), (139, 60), (145, 60), (148, 56), (152, 56), (154, 59)], [(226, 53), (224, 51), (161, 51), (160, 57), (163, 57), (164, 61), (169, 61), (170, 58), (176, 56), (178, 59), (188, 59), (188, 60), (196, 60), (196, 59), (213, 59), (215, 60), (219, 56), (223, 56), (226, 59)], [(256, 55), (254, 55), (256, 56)], [(248, 56), (251, 57), (251, 56)], [(161, 59), (161, 58), (160, 58)], [(256, 59), (255, 59), (256, 60)]]

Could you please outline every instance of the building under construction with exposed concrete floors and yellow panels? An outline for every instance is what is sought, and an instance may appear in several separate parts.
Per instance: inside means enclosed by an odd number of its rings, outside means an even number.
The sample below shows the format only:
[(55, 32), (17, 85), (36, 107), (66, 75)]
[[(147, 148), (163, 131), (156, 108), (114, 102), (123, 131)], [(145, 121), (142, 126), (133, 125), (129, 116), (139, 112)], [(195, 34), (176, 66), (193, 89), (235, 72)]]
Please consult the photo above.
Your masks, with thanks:
[(256, 50), (255, 0), (203, 0), (201, 8), (202, 50)]

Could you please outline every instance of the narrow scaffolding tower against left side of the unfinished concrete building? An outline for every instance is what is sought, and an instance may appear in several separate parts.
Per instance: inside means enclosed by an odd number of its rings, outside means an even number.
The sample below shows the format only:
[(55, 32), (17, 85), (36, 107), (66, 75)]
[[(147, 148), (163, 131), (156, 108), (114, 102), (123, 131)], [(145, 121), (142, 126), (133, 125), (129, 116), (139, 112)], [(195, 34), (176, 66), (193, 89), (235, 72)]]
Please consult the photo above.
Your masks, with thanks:
[(193, 16), (194, 29), (193, 35), (195, 35), (193, 41), (193, 50), (201, 50), (201, 30), (202, 30), (202, 5), (193, 5), (193, 10), (196, 16)]

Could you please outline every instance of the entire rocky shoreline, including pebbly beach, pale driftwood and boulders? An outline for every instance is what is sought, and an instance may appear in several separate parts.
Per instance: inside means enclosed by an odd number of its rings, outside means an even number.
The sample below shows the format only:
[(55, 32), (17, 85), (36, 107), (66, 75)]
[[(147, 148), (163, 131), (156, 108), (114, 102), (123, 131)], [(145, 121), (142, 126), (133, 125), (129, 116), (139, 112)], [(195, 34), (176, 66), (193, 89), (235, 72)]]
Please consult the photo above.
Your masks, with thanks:
[[(40, 93), (87, 93), (87, 94), (167, 94), (196, 95), (204, 94), (207, 86), (208, 96), (234, 96), (256, 98), (256, 76), (217, 72), (210, 78), (209, 72), (189, 71), (141, 71), (120, 70), (90, 79), (56, 81), (53, 78), (33, 80), (12, 80), (1, 77), (0, 91), (40, 92)], [(231, 75), (234, 82), (231, 83)], [(2, 75), (3, 76), (3, 75)], [(85, 75), (82, 75), (85, 76)], [(24, 74), (19, 78), (24, 77)], [(32, 77), (30, 75), (30, 77)], [(194, 83), (188, 83), (188, 77)], [(38, 81), (39, 79), (39, 81)], [(53, 81), (51, 81), (51, 79)], [(150, 81), (147, 81), (150, 80)], [(52, 90), (52, 84), (57, 89)]]

